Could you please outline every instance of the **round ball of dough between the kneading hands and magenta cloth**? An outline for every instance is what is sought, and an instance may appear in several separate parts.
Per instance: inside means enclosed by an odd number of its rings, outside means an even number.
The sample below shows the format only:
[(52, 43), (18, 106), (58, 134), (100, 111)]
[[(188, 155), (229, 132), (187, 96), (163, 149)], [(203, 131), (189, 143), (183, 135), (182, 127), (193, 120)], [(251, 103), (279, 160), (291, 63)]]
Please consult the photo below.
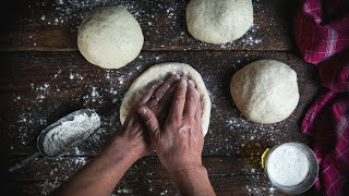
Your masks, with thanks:
[(264, 124), (287, 119), (299, 101), (296, 72), (274, 60), (255, 61), (239, 70), (231, 78), (230, 93), (248, 120)]

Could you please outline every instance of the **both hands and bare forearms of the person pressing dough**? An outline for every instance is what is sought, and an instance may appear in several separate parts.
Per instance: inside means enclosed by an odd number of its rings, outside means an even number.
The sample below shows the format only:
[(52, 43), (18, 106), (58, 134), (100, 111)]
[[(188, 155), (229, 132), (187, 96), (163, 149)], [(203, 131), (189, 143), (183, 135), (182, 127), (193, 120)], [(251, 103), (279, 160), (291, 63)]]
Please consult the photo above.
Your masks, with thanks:
[(185, 76), (155, 84), (130, 111), (123, 132), (53, 195), (110, 195), (129, 168), (153, 150), (182, 195), (215, 195), (202, 166), (201, 113), (195, 84)]

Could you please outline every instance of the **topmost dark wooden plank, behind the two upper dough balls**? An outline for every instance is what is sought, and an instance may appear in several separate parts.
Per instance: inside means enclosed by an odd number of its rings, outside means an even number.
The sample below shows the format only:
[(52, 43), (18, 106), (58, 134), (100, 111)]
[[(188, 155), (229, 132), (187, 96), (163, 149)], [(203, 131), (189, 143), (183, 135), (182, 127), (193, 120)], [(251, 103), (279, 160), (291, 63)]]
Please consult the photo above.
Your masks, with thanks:
[[(206, 45), (186, 30), (188, 0), (163, 1), (63, 1), (14, 0), (7, 12), (8, 30), (0, 34), (0, 51), (74, 51), (82, 19), (95, 7), (122, 5), (140, 22), (145, 44), (143, 50), (274, 50), (289, 51), (292, 8), (296, 1), (254, 0), (254, 25), (241, 39), (226, 45)], [(71, 3), (69, 3), (71, 2)], [(286, 12), (287, 11), (287, 12)], [(21, 15), (19, 17), (19, 14)]]

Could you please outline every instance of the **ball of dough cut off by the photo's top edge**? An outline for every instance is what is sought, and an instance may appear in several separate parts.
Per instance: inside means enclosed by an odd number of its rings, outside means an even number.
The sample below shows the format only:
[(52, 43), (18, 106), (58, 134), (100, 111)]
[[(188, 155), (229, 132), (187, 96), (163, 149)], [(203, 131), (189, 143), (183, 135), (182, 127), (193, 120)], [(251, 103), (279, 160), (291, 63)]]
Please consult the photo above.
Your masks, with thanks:
[(253, 24), (251, 0), (192, 0), (186, 7), (186, 25), (195, 38), (226, 44), (242, 37)]

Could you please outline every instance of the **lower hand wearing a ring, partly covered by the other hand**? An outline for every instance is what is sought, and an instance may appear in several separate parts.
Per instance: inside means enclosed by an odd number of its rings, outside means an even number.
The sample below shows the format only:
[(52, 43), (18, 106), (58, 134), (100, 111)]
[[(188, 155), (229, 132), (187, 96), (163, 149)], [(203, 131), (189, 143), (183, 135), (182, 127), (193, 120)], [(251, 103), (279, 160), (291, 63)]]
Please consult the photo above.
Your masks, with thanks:
[[(173, 74), (167, 81), (160, 81), (145, 91), (144, 96), (131, 108), (124, 121), (123, 132), (121, 136), (117, 136), (121, 137), (119, 140), (122, 140), (122, 144), (118, 146), (122, 147), (128, 154), (132, 154), (136, 159), (152, 151), (147, 132), (136, 111), (139, 108), (146, 106), (155, 109), (156, 113), (159, 114), (163, 111), (164, 105), (167, 105), (168, 100), (170, 100), (169, 91), (173, 89), (171, 87), (176, 86), (179, 79), (180, 76)], [(158, 101), (160, 99), (161, 103)]]

